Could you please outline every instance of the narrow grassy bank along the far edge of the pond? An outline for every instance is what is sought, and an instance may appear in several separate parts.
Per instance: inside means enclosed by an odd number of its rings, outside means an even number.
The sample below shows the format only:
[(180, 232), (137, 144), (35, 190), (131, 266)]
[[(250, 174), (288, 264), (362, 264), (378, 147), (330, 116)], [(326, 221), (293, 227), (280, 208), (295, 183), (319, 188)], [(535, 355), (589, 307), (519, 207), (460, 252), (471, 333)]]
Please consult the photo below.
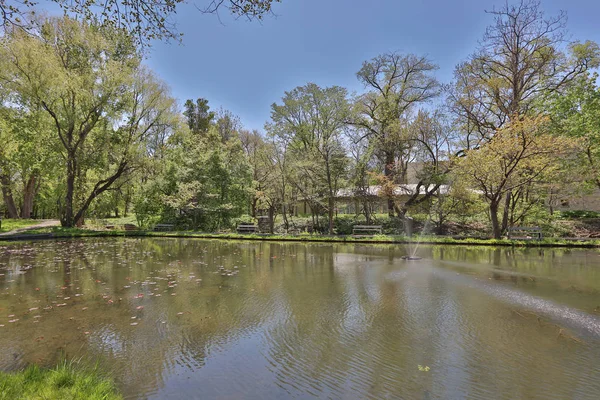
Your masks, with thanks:
[[(600, 247), (600, 240), (569, 240), (563, 238), (545, 238), (543, 240), (509, 240), (509, 239), (484, 239), (484, 238), (459, 238), (450, 236), (413, 237), (401, 235), (375, 235), (354, 237), (352, 235), (319, 235), (319, 234), (237, 234), (237, 233), (204, 233), (204, 232), (152, 232), (152, 231), (123, 231), (123, 230), (90, 230), (77, 228), (42, 228), (20, 234), (20, 239), (28, 236), (46, 234), (49, 238), (78, 238), (78, 237), (177, 237), (199, 239), (226, 239), (226, 240), (268, 240), (268, 241), (294, 241), (294, 242), (331, 242), (331, 243), (395, 243), (395, 244), (448, 244), (448, 245), (479, 245), (479, 246), (518, 246), (518, 247)], [(7, 239), (7, 238), (4, 238)]]

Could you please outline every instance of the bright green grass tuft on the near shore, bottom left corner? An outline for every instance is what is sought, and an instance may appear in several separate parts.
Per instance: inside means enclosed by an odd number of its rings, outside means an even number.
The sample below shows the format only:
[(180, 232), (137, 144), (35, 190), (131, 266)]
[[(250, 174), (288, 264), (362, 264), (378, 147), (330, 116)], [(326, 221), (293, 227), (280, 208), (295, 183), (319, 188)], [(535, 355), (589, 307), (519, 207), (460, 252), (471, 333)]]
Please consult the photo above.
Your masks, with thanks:
[(76, 363), (63, 362), (55, 368), (32, 365), (16, 373), (0, 372), (0, 400), (118, 400), (111, 379), (94, 369), (80, 368)]

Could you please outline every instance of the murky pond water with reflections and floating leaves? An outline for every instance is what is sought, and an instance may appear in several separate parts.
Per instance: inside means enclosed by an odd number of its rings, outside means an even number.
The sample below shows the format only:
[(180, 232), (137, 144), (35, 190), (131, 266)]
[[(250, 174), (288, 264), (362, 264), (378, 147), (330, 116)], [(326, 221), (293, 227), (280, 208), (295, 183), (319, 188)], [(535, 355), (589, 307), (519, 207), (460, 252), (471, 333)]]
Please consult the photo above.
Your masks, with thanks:
[(0, 246), (0, 370), (127, 398), (597, 399), (597, 250), (88, 239)]

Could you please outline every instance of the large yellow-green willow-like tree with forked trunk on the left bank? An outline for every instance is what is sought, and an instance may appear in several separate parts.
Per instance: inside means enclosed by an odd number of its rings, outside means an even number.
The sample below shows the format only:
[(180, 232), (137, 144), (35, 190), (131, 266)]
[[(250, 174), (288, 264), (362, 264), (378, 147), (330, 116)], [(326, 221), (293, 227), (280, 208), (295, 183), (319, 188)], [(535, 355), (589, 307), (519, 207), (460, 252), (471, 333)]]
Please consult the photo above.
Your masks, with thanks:
[(7, 60), (0, 84), (52, 120), (66, 170), (61, 220), (71, 227), (135, 169), (141, 143), (173, 101), (166, 86), (139, 67), (133, 43), (120, 31), (48, 19), (39, 36), (10, 31), (0, 52)]

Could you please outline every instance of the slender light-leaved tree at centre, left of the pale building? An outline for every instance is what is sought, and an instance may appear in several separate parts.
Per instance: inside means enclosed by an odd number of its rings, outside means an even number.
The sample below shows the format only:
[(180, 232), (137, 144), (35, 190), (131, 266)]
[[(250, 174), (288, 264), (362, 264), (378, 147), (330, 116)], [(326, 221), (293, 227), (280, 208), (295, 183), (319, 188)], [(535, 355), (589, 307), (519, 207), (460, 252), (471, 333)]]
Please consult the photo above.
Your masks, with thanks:
[(339, 86), (320, 88), (314, 83), (286, 92), (282, 104), (271, 106), (271, 119), (277, 134), (289, 135), (296, 166), (306, 182), (322, 185), (327, 199), (329, 233), (333, 234), (335, 198), (343, 179), (347, 158), (342, 133), (350, 111), (346, 89)]

